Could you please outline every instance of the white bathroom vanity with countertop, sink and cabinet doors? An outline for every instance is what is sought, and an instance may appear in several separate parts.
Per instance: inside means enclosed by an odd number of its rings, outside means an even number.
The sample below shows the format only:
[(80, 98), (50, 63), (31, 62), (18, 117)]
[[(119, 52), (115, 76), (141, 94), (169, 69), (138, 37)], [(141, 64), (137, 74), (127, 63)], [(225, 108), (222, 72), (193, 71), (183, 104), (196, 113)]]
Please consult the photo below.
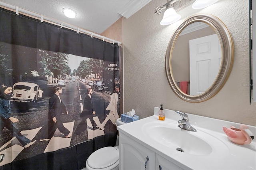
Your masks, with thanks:
[[(256, 142), (232, 143), (222, 127), (239, 123), (188, 114), (197, 132), (178, 127), (181, 119), (175, 111), (164, 109), (165, 121), (154, 115), (126, 125), (119, 130), (119, 169), (256, 169)], [(248, 126), (256, 134), (256, 127)]]

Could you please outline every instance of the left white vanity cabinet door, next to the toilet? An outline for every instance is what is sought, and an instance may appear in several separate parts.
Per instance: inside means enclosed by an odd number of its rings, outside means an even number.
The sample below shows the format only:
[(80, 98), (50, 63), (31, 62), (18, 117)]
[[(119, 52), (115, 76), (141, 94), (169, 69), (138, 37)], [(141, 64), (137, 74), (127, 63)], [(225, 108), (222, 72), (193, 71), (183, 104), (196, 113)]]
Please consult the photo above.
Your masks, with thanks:
[[(119, 132), (119, 169), (120, 170), (154, 170), (155, 153)], [(148, 157), (148, 161), (147, 161)]]

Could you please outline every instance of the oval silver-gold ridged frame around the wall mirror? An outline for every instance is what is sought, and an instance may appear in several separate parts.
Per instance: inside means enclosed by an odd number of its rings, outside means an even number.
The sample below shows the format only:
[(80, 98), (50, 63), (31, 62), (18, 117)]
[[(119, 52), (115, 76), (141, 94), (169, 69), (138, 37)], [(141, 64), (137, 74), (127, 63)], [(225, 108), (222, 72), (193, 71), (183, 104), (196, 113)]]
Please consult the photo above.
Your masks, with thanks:
[[(212, 27), (212, 29), (216, 32), (217, 36), (219, 37), (220, 46), (222, 49), (222, 61), (220, 65), (220, 70), (218, 72), (218, 75), (214, 83), (212, 83), (212, 85), (204, 93), (200, 95), (191, 96), (191, 95), (187, 95), (186, 93), (183, 93), (178, 87), (172, 73), (171, 65), (172, 65), (172, 51), (174, 49), (174, 45), (178, 36), (182, 32), (182, 30), (186, 28), (186, 26), (194, 22), (204, 22), (208, 24), (210, 27)], [(210, 99), (211, 97), (216, 95), (218, 91), (220, 91), (220, 89), (224, 86), (225, 82), (227, 81), (228, 76), (230, 75), (233, 61), (234, 61), (233, 40), (225, 24), (219, 18), (211, 14), (196, 14), (187, 18), (172, 35), (166, 50), (165, 71), (166, 71), (168, 82), (172, 90), (178, 97), (180, 97), (180, 99), (191, 102), (191, 103), (199, 103), (199, 102)]]

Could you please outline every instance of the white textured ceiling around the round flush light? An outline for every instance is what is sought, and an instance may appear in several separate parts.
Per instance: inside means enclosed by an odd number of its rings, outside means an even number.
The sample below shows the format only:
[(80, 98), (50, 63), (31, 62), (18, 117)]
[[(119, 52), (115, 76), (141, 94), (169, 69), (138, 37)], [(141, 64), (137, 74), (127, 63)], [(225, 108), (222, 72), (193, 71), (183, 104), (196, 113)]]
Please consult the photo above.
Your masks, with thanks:
[[(119, 18), (129, 18), (151, 0), (0, 0), (68, 23), (97, 34), (101, 34)], [(1, 4), (0, 4), (1, 5)], [(4, 5), (3, 5), (4, 6)], [(62, 8), (76, 11), (77, 17), (67, 18)], [(14, 8), (15, 9), (15, 8)]]

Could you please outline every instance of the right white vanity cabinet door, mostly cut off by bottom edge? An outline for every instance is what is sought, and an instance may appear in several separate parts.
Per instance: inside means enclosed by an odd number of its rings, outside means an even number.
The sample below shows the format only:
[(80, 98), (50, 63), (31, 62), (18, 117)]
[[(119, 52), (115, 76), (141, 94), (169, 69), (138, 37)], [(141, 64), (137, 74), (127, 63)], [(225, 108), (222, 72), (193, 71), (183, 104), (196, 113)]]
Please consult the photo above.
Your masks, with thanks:
[(182, 170), (176, 164), (170, 162), (166, 158), (156, 154), (156, 170)]

